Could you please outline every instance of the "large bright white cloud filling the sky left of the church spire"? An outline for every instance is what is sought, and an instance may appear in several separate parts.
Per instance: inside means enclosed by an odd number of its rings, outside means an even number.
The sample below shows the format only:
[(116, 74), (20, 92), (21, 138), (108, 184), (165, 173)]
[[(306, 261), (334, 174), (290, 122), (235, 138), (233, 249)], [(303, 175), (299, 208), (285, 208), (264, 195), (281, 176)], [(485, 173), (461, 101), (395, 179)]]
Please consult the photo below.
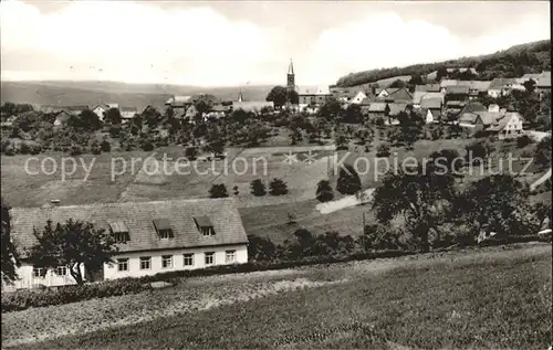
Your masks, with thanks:
[[(72, 2), (41, 13), (20, 1), (0, 3), (2, 70), (182, 84), (239, 84), (255, 65), (275, 55), (274, 33), (246, 21), (229, 21), (210, 8), (164, 11), (127, 1)], [(17, 59), (32, 52), (28, 68)], [(29, 60), (25, 60), (29, 61)], [(27, 62), (29, 63), (29, 62)]]

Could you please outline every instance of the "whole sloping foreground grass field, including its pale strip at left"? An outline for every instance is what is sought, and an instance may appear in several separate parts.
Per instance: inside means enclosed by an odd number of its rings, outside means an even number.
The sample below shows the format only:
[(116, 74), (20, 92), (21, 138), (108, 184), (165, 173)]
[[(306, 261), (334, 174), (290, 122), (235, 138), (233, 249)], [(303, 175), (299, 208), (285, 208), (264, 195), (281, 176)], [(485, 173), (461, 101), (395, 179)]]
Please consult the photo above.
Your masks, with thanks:
[(547, 349), (551, 264), (520, 244), (190, 278), (4, 314), (2, 347)]

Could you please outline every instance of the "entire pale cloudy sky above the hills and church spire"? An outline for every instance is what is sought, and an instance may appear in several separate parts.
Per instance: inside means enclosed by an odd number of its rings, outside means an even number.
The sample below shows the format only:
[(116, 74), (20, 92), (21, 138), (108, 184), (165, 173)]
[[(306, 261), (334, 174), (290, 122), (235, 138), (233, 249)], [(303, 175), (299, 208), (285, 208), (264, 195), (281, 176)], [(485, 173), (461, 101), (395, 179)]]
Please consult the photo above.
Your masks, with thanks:
[(0, 2), (3, 81), (334, 84), (550, 39), (549, 1)]

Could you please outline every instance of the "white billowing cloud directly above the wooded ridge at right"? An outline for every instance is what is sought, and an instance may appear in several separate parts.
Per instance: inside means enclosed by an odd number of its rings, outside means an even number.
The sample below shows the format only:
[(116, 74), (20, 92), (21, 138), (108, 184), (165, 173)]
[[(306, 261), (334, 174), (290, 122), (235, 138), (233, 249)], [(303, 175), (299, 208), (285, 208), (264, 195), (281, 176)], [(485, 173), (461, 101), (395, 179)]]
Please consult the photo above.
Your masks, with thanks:
[(392, 12), (374, 13), (323, 31), (310, 49), (307, 61), (316, 62), (312, 70), (321, 76), (337, 78), (351, 72), (487, 54), (543, 40), (549, 38), (547, 22), (544, 17), (528, 17), (522, 22), (492, 26), (492, 32), (479, 38), (462, 38), (426, 21), (406, 21)]

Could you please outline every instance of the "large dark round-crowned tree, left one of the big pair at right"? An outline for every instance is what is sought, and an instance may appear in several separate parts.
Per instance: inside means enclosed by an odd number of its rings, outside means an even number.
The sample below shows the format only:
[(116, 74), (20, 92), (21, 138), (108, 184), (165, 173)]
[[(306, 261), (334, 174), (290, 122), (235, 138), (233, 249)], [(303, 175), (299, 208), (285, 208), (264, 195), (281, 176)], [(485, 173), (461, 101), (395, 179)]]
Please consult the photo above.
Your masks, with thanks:
[(403, 216), (406, 230), (419, 241), (422, 252), (430, 250), (430, 232), (439, 234), (449, 203), (455, 198), (450, 174), (425, 172), (421, 167), (388, 172), (375, 190), (373, 210), (382, 224)]

